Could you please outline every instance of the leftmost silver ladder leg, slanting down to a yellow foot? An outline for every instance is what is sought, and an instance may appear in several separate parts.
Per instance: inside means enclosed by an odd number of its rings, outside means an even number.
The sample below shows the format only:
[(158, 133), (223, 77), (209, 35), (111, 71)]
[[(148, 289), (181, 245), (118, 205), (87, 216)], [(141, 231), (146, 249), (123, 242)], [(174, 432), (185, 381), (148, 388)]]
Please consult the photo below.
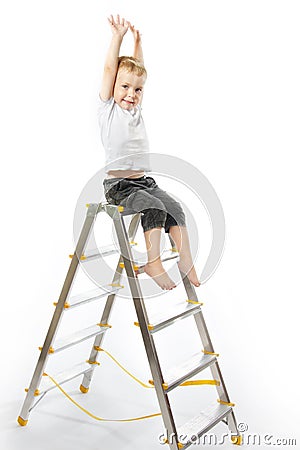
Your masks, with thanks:
[(64, 305), (65, 305), (65, 302), (69, 295), (69, 292), (71, 290), (73, 280), (74, 280), (75, 274), (78, 269), (79, 259), (80, 259), (80, 256), (83, 254), (88, 237), (92, 230), (94, 220), (97, 215), (97, 210), (98, 210), (98, 204), (96, 204), (96, 203), (91, 204), (88, 208), (86, 219), (85, 219), (85, 222), (84, 222), (82, 230), (81, 230), (81, 234), (78, 239), (78, 243), (77, 243), (77, 246), (76, 246), (76, 249), (74, 252), (74, 256), (72, 257), (72, 261), (71, 261), (68, 273), (66, 275), (66, 278), (65, 278), (65, 281), (63, 284), (63, 288), (62, 288), (61, 294), (59, 296), (59, 300), (58, 300), (57, 306), (55, 308), (55, 311), (54, 311), (54, 314), (52, 317), (52, 321), (50, 323), (48, 333), (46, 335), (44, 345), (41, 350), (40, 357), (38, 359), (36, 368), (34, 370), (27, 395), (25, 397), (25, 400), (24, 400), (24, 403), (23, 403), (23, 406), (22, 406), (22, 409), (20, 412), (20, 416), (18, 417), (18, 422), (22, 426), (27, 424), (29, 413), (30, 413), (31, 409), (33, 408), (35, 392), (38, 389), (38, 386), (40, 384), (40, 381), (41, 381), (41, 378), (42, 378), (42, 375), (44, 372), (44, 368), (45, 368), (45, 365), (46, 365), (46, 362), (47, 362), (47, 359), (49, 356), (49, 350), (50, 350), (50, 347), (55, 338), (55, 335), (56, 335), (56, 332), (58, 329), (58, 325), (60, 323), (60, 320), (61, 320), (61, 317), (62, 317), (62, 314), (64, 311)]

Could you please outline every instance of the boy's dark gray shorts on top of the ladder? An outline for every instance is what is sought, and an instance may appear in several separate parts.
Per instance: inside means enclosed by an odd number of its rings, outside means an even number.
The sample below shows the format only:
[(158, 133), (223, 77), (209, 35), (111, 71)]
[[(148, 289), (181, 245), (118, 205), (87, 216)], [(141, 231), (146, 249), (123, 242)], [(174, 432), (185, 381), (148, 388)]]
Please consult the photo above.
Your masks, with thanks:
[(171, 226), (185, 226), (180, 203), (160, 189), (152, 177), (108, 178), (103, 185), (108, 203), (142, 213), (144, 231), (164, 227), (168, 233)]

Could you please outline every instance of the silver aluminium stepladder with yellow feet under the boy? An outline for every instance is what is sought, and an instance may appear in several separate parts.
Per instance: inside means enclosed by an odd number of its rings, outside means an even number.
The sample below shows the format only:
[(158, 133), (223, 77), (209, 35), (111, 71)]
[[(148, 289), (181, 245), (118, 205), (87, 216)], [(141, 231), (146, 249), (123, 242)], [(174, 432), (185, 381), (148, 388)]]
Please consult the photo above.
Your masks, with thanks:
[[(117, 237), (117, 248), (106, 248), (104, 251), (96, 249), (86, 252), (87, 243), (95, 221), (99, 214), (107, 214), (112, 220), (113, 228)], [(129, 226), (126, 226), (125, 218), (129, 217)], [(57, 302), (45, 341), (40, 347), (40, 355), (34, 369), (29, 387), (26, 389), (25, 400), (22, 405), (18, 423), (25, 426), (28, 422), (31, 411), (37, 406), (40, 400), (52, 389), (74, 378), (82, 378), (80, 391), (87, 393), (90, 389), (94, 371), (98, 366), (99, 355), (102, 351), (102, 344), (106, 332), (110, 330), (109, 324), (112, 315), (112, 308), (116, 298), (122, 290), (121, 280), (126, 277), (130, 296), (132, 298), (136, 313), (135, 325), (139, 327), (145, 353), (149, 363), (153, 385), (159, 404), (161, 417), (164, 424), (164, 441), (171, 450), (178, 448), (188, 448), (195, 442), (195, 437), (200, 438), (209, 432), (220, 422), (223, 422), (229, 430), (229, 436), (233, 444), (241, 444), (242, 436), (239, 433), (234, 403), (230, 401), (228, 391), (220, 370), (218, 354), (215, 352), (206, 322), (202, 312), (202, 303), (198, 300), (196, 290), (189, 281), (186, 274), (180, 272), (182, 287), (185, 291), (185, 298), (176, 303), (175, 308), (162, 308), (163, 311), (155, 318), (150, 317), (143, 297), (139, 275), (143, 273), (143, 264), (135, 260), (132, 246), (140, 224), (141, 213), (124, 209), (122, 206), (110, 205), (107, 203), (92, 203), (87, 205), (86, 217), (76, 243), (74, 254), (71, 255), (70, 266)], [(171, 250), (166, 253), (165, 260), (174, 259), (178, 261), (179, 255), (174, 247), (174, 242), (170, 238)], [(107, 285), (99, 286), (97, 289), (83, 294), (72, 296), (72, 287), (81, 264), (92, 258), (103, 258), (106, 254), (117, 254), (117, 262), (114, 274)], [(163, 259), (164, 260), (164, 259)], [(175, 294), (174, 290), (174, 295)], [(173, 294), (172, 294), (173, 295)], [(103, 300), (106, 299), (106, 300)], [(89, 327), (73, 332), (69, 336), (57, 338), (57, 332), (61, 325), (64, 314), (73, 308), (84, 308), (87, 303), (98, 301), (104, 305), (101, 307), (100, 321)], [(192, 318), (195, 329), (199, 335), (199, 351), (187, 360), (176, 361), (175, 367), (167, 372), (162, 368), (161, 357), (157, 350), (156, 336), (165, 328), (171, 327), (178, 321), (184, 327), (185, 319)], [(182, 321), (182, 322), (181, 322)], [(88, 359), (77, 363), (74, 367), (63, 372), (58, 372), (53, 378), (56, 384), (51, 383), (46, 375), (48, 358), (53, 353), (67, 350), (83, 341), (92, 341)], [(170, 346), (172, 344), (170, 343)], [(170, 402), (170, 393), (177, 388), (192, 384), (193, 377), (205, 370), (209, 370), (213, 380), (207, 384), (216, 387), (217, 396), (212, 405), (201, 408), (199, 413), (192, 416), (185, 424), (177, 424), (173, 407)], [(50, 382), (49, 382), (50, 381)], [(198, 380), (199, 382), (199, 380)], [(196, 383), (195, 383), (196, 384)], [(198, 384), (201, 384), (200, 382)], [(203, 381), (205, 384), (205, 381)], [(200, 404), (200, 403), (199, 403)]]

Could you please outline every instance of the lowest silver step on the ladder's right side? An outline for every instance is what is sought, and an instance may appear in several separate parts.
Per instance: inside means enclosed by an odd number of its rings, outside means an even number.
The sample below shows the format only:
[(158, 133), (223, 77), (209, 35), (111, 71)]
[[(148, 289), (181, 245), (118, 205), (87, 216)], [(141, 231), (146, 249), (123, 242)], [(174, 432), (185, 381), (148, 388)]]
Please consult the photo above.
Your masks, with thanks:
[(231, 406), (213, 404), (207, 411), (200, 413), (189, 422), (177, 429), (178, 437), (181, 438), (184, 449), (195, 443), (195, 436), (202, 436), (211, 428), (221, 422), (232, 411)]

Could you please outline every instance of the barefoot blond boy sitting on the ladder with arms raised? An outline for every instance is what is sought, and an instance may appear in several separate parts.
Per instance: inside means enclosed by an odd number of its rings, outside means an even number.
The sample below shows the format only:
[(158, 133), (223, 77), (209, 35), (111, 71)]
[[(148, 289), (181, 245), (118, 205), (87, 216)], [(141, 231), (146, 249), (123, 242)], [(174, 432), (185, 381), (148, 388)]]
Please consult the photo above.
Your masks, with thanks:
[[(200, 286), (182, 207), (161, 190), (153, 178), (145, 176), (145, 171), (151, 169), (140, 106), (147, 77), (140, 33), (119, 15), (110, 16), (108, 21), (112, 39), (104, 66), (99, 106), (99, 124), (106, 152), (107, 178), (103, 182), (106, 199), (109, 203), (142, 213), (148, 255), (144, 270), (162, 289), (176, 286), (160, 259), (162, 228), (170, 233), (176, 244), (179, 269), (194, 286)], [(134, 37), (133, 57), (119, 57), (128, 29)]]

